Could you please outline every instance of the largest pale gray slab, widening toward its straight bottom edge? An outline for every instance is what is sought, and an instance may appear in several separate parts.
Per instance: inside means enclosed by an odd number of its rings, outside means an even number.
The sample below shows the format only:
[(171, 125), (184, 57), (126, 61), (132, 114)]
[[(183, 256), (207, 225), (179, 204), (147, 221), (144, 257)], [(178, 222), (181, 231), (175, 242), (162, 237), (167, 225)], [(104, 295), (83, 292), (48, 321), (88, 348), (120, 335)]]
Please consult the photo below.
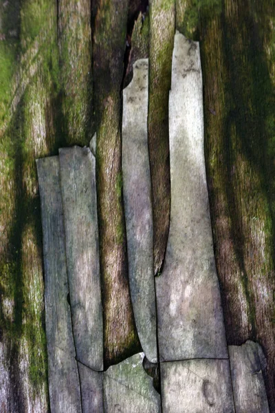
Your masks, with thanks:
[(199, 43), (175, 34), (169, 98), (171, 211), (156, 278), (160, 361), (226, 358), (203, 154)]

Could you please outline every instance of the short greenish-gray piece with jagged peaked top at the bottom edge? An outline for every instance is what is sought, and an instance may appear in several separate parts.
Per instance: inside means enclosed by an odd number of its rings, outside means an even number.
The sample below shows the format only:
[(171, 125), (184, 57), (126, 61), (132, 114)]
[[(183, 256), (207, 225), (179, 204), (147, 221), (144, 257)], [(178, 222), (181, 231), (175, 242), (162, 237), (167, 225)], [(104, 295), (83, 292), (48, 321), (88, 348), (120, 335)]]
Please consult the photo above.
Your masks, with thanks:
[(142, 361), (144, 353), (135, 354), (104, 372), (105, 413), (160, 413), (160, 396), (153, 388)]

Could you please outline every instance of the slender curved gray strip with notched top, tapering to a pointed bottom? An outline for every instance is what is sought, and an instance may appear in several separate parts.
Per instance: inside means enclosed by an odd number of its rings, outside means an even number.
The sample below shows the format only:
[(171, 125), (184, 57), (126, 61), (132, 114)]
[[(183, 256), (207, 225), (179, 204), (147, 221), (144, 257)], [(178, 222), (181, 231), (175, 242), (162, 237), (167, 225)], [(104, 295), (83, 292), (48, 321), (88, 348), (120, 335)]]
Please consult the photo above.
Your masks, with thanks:
[(148, 59), (133, 65), (133, 80), (123, 91), (122, 173), (129, 281), (142, 350), (157, 361), (153, 212), (148, 156)]

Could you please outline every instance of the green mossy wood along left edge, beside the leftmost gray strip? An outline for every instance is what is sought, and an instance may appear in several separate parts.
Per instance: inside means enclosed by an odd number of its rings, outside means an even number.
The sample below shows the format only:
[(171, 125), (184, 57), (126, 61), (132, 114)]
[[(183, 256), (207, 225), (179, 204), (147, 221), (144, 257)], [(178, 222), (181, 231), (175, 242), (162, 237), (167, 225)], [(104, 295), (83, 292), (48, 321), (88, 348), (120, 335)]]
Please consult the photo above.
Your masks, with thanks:
[(56, 3), (0, 1), (0, 411), (47, 412), (35, 159), (58, 145)]

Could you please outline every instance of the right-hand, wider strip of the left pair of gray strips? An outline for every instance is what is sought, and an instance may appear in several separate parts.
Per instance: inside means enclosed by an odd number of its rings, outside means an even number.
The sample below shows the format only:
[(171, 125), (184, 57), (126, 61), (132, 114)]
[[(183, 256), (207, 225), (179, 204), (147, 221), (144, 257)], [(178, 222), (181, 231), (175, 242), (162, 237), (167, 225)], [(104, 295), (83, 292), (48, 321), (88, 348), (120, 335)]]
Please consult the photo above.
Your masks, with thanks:
[(59, 150), (67, 271), (77, 359), (103, 370), (96, 160), (89, 148)]

